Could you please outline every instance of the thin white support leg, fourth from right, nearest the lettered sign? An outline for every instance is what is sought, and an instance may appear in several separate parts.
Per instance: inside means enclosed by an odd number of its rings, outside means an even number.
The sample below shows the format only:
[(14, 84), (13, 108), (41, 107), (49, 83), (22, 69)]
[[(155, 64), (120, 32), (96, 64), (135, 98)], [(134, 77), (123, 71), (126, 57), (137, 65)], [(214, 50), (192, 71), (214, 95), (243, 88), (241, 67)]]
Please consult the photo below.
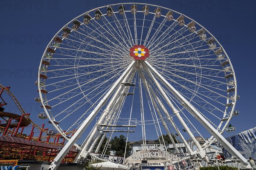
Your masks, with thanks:
[[(149, 89), (149, 85), (148, 85), (148, 83), (146, 82), (146, 80), (145, 80), (144, 77), (142, 78), (142, 80), (143, 80), (144, 86), (147, 87), (148, 93), (151, 94), (151, 95), (153, 95), (152, 92), (151, 92), (151, 90)], [(151, 97), (151, 95), (150, 95), (150, 97)], [(154, 96), (154, 95), (153, 95), (153, 96)], [(154, 96), (154, 98), (156, 99), (155, 96)], [(172, 144), (173, 144), (173, 147), (174, 147), (176, 153), (179, 153), (179, 150), (178, 150), (178, 148), (177, 148), (177, 146), (176, 146), (176, 144), (175, 144), (175, 141), (174, 141), (173, 138), (172, 138), (172, 135), (171, 135), (171, 133), (170, 133), (170, 131), (169, 131), (167, 125), (166, 125), (166, 122), (163, 120), (163, 116), (161, 115), (161, 112), (160, 112), (160, 110), (158, 109), (158, 106), (157, 106), (157, 104), (156, 104), (154, 98), (151, 98), (152, 103), (153, 103), (154, 107), (156, 108), (157, 113), (158, 113), (160, 119), (162, 120), (163, 127), (165, 128), (166, 133), (167, 133), (167, 135), (169, 136), (169, 138), (170, 138), (170, 140), (171, 140), (171, 142), (172, 142)]]

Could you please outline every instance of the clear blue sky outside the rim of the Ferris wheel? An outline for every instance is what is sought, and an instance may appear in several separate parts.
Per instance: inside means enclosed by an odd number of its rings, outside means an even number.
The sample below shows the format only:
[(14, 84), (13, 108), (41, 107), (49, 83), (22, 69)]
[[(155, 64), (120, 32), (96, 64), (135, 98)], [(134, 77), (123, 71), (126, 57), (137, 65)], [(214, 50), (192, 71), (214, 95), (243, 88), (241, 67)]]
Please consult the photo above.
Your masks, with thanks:
[[(35, 80), (41, 56), (52, 36), (74, 17), (119, 0), (1, 0), (0, 84), (11, 91), (31, 113), (35, 123), (40, 105)], [(127, 1), (126, 1), (127, 2)], [(131, 2), (131, 1), (129, 1)], [(236, 72), (240, 115), (231, 123), (233, 135), (256, 126), (256, 1), (255, 0), (139, 0), (183, 13), (204, 26), (222, 44)], [(14, 104), (9, 105), (9, 109)]]

